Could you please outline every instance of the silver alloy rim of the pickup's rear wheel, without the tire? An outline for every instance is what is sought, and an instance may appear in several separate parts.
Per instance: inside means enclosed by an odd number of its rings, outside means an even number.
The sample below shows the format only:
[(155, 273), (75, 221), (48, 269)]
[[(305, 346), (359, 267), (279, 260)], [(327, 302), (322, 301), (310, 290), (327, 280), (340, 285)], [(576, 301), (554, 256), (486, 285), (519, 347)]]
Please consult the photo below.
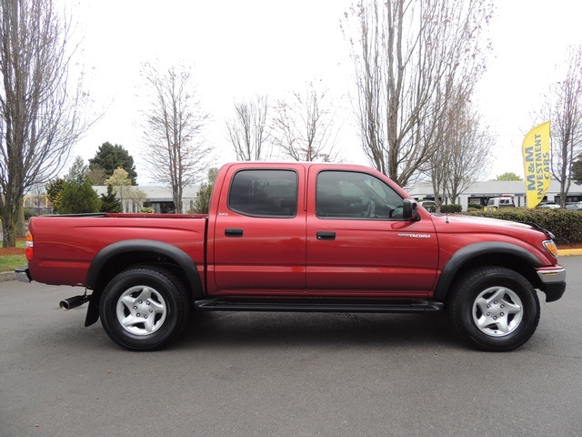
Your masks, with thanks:
[(125, 290), (117, 300), (117, 320), (134, 335), (156, 332), (164, 324), (167, 311), (166, 300), (160, 293), (142, 285)]

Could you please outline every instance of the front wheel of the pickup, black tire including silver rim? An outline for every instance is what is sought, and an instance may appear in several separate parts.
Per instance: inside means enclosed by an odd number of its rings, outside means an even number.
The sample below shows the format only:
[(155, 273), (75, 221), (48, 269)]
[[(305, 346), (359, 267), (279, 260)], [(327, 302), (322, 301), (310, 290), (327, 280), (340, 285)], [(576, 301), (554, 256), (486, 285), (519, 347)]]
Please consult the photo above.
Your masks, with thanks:
[(457, 280), (448, 301), (463, 338), (483, 351), (511, 351), (534, 334), (539, 300), (532, 285), (511, 269), (484, 267)]

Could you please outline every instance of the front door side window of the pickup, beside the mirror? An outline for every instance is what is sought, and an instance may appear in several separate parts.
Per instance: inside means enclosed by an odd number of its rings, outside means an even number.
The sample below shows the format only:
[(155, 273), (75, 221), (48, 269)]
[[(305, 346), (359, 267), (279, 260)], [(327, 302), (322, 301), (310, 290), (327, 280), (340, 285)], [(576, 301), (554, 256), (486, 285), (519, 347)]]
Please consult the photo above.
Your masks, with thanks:
[(316, 214), (331, 219), (401, 219), (403, 200), (366, 173), (322, 171), (317, 176)]

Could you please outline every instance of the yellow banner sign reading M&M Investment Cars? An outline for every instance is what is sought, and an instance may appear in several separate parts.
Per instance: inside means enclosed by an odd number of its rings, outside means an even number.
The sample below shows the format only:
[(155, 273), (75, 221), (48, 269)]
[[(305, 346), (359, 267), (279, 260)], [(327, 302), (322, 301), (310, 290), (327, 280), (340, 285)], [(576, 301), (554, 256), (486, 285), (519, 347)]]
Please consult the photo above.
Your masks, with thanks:
[(536, 208), (549, 187), (549, 121), (531, 129), (522, 145), (526, 173), (527, 208)]

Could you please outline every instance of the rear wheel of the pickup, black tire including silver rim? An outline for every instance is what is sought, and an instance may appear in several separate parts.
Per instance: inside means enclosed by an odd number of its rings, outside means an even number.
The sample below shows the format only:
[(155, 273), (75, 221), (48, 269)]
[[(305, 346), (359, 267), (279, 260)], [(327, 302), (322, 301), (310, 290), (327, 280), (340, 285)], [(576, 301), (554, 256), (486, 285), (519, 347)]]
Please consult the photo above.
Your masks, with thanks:
[(166, 269), (132, 268), (107, 284), (99, 305), (107, 335), (129, 351), (153, 351), (184, 328), (190, 307), (179, 279)]

